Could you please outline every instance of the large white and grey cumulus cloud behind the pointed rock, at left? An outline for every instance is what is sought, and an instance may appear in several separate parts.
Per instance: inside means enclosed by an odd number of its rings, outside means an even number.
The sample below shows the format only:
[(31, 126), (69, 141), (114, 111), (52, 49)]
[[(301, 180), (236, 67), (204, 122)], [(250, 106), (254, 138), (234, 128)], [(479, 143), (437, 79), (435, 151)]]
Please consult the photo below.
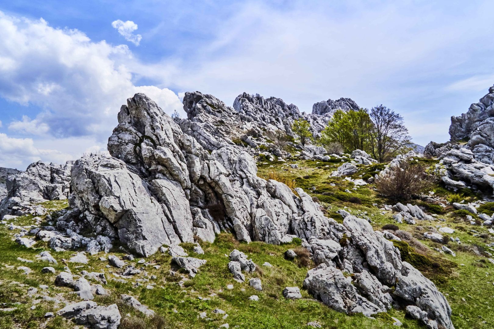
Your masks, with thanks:
[[(4, 122), (15, 137), (37, 135), (35, 141), (14, 141), (13, 145), (30, 150), (19, 149), (14, 157), (24, 156), (23, 166), (42, 155), (53, 155), (53, 161), (68, 158), (47, 151), (61, 147), (46, 146), (52, 140), (70, 140), (69, 152), (61, 153), (71, 156), (94, 145), (106, 148), (121, 105), (137, 92), (149, 94), (168, 114), (182, 108), (181, 99), (167, 88), (134, 85), (131, 71), (136, 61), (126, 45), (93, 42), (78, 30), (57, 29), (43, 19), (2, 12), (0, 31), (0, 97), (42, 109), (35, 117)], [(7, 137), (2, 139), (5, 146)], [(79, 147), (77, 154), (75, 147)], [(7, 153), (0, 150), (0, 154), (4, 159)]]

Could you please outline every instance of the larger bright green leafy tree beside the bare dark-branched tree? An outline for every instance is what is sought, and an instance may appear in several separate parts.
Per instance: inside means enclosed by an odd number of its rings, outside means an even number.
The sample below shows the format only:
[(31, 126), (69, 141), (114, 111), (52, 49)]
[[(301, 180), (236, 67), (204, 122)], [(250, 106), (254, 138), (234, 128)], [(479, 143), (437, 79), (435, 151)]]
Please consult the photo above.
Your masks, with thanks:
[(356, 149), (369, 150), (372, 122), (365, 109), (337, 110), (331, 121), (321, 132), (322, 143), (329, 145), (337, 143), (345, 152)]

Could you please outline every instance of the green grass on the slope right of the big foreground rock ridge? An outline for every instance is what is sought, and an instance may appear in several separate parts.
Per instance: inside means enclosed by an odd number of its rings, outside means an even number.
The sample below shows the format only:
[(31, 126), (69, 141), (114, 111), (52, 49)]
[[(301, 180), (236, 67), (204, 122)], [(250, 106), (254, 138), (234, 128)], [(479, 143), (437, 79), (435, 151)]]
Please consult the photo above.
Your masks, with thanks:
[[(434, 165), (437, 160), (419, 159), (418, 162)], [(467, 215), (472, 216), (474, 220), (478, 218), (477, 216), (467, 211), (457, 211), (452, 206), (443, 208), (421, 200), (411, 200), (410, 203), (424, 207), (427, 212), (438, 215), (437, 218), (444, 219), (444, 221), (417, 221), (416, 225), (398, 224), (392, 219), (391, 212), (386, 211), (382, 214), (381, 210), (372, 206), (372, 203), (378, 204), (378, 207), (382, 204), (394, 204), (377, 195), (372, 184), (353, 190), (353, 184), (344, 181), (341, 177), (329, 177), (331, 171), (342, 164), (341, 160), (334, 159), (334, 162), (321, 161), (320, 163), (312, 160), (299, 160), (293, 163), (296, 163), (299, 168), (285, 171), (286, 165), (284, 163), (270, 163), (273, 167), (269, 170), (277, 171), (278, 174), (284, 175), (288, 179), (295, 178), (296, 186), (302, 187), (310, 195), (318, 197), (320, 204), (326, 208), (326, 216), (336, 219), (338, 222), (342, 222), (342, 218), (336, 211), (347, 207), (346, 210), (354, 215), (370, 218), (371, 224), (376, 230), (384, 224), (393, 223), (398, 225), (401, 230), (409, 232), (415, 241), (418, 241), (426, 250), (413, 248), (406, 242), (394, 242), (395, 246), (399, 248), (404, 260), (411, 262), (420, 269), (426, 277), (437, 285), (441, 292), (445, 293), (453, 310), (452, 321), (455, 328), (494, 328), (494, 315), (491, 312), (494, 308), (494, 264), (487, 260), (490, 256), (485, 254), (485, 252), (494, 254), (494, 248), (490, 247), (490, 244), (494, 243), (494, 237), (487, 231), (488, 227), (471, 225), (466, 219)], [(326, 165), (329, 165), (327, 170), (317, 168), (324, 168)], [(382, 164), (360, 165), (358, 166), (359, 172), (352, 175), (352, 179), (361, 178), (361, 175), (363, 177), (365, 175), (373, 176), (377, 170), (382, 170), (382, 166)], [(268, 167), (258, 165), (259, 176)], [(302, 177), (305, 175), (309, 177), (303, 179)], [(331, 186), (330, 183), (335, 184), (335, 186)], [(316, 190), (310, 189), (312, 186), (315, 186)], [(348, 202), (348, 193), (343, 192), (346, 188), (352, 191), (351, 195), (361, 198), (363, 203)], [(473, 202), (481, 200), (483, 197), (482, 194), (475, 193), (469, 188), (454, 192), (441, 184), (435, 185), (431, 191), (434, 191), (434, 195), (439, 196), (446, 203), (463, 199), (465, 202)], [(322, 195), (322, 193), (326, 195)], [(364, 215), (364, 212), (367, 212), (367, 215)], [(478, 212), (492, 215), (494, 203), (489, 202), (482, 205)], [(453, 234), (441, 234), (446, 236), (447, 240), (449, 236), (460, 239), (461, 244), (449, 240), (447, 244), (448, 248), (456, 253), (456, 257), (439, 253), (437, 249), (441, 249), (441, 244), (423, 238), (423, 232), (435, 232), (437, 230), (436, 225), (449, 226), (455, 230)], [(465, 301), (462, 298), (465, 298)], [(379, 316), (379, 319), (385, 318), (387, 316)], [(407, 326), (409, 323), (405, 322), (404, 327)]]

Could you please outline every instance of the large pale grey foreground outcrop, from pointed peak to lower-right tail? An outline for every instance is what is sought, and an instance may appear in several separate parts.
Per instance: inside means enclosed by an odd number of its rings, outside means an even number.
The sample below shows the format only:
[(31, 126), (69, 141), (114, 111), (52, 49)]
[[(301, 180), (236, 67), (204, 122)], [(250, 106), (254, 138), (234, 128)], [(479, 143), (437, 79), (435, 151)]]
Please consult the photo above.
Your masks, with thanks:
[[(195, 105), (189, 94), (184, 107), (197, 110), (195, 118), (204, 113), (199, 107), (213, 109), (206, 101), (216, 110), (222, 104), (194, 94)], [(244, 148), (228, 143), (205, 149), (197, 130), (181, 129), (197, 121), (184, 120), (179, 126), (144, 94), (127, 100), (109, 139), (112, 156), (84, 156), (72, 170), (74, 195), (69, 200), (89, 228), (118, 236), (142, 256), (162, 244), (192, 242), (193, 235), (213, 241), (221, 230), (246, 242), (273, 244), (295, 235), (321, 264), (309, 272), (305, 285), (329, 306), (372, 315), (386, 311), (391, 300), (406, 300), (429, 319), (453, 328), (444, 296), (403, 262), (392, 242), (367, 220), (348, 215), (338, 224), (325, 217), (301, 188), (296, 188), (297, 197), (285, 184), (257, 177), (255, 161)], [(211, 129), (204, 131), (209, 134), (215, 129), (201, 127)], [(240, 281), (242, 270), (255, 269), (240, 252), (230, 258), (229, 268)], [(353, 284), (343, 271), (355, 274)]]

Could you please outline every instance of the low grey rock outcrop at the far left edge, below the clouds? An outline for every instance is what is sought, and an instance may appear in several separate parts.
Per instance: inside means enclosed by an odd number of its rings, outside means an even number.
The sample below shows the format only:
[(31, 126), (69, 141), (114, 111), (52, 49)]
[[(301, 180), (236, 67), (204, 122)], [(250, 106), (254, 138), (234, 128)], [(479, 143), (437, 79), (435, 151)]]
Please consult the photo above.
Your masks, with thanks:
[(7, 195), (0, 203), (0, 218), (4, 215), (42, 214), (35, 203), (64, 200), (70, 194), (72, 161), (65, 165), (38, 161), (6, 179)]

